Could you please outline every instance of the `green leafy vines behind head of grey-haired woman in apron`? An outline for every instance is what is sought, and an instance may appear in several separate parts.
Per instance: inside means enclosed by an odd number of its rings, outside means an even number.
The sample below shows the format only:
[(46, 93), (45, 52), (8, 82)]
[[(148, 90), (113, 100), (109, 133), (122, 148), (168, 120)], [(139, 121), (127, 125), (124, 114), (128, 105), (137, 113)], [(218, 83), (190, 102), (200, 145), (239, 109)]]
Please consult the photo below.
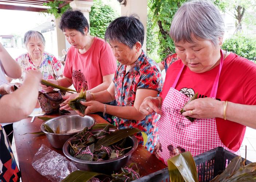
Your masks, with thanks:
[[(175, 46), (173, 40), (169, 36), (169, 30), (173, 16), (185, 1), (186, 0), (148, 1), (148, 19), (150, 20), (147, 20), (147, 37), (149, 37), (147, 38), (147, 51), (148, 54), (151, 55), (151, 58), (154, 57), (152, 56), (154, 55), (152, 51), (155, 51), (156, 49), (158, 52), (158, 60), (163, 60), (166, 55), (175, 52)], [(225, 10), (226, 2), (223, 0), (212, 1), (221, 9), (221, 11)], [(157, 32), (153, 31), (155, 29), (157, 29)], [(152, 41), (157, 41), (159, 46), (155, 46)]]

